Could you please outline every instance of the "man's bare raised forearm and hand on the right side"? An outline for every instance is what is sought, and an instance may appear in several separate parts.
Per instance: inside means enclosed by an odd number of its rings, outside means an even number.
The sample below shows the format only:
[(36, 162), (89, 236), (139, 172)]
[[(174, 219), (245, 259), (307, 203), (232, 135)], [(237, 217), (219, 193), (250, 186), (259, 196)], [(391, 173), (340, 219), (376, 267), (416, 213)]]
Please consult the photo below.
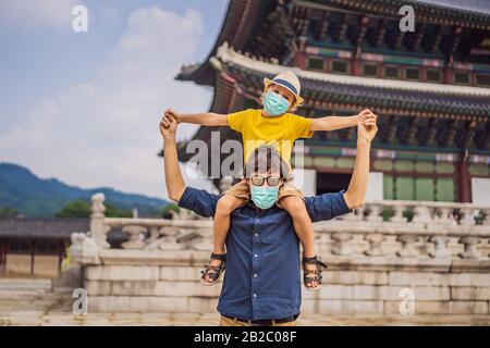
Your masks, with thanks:
[(375, 138), (378, 127), (376, 117), (370, 125), (357, 124), (357, 154), (354, 164), (354, 172), (348, 184), (347, 191), (344, 194), (345, 203), (350, 209), (359, 208), (366, 199), (366, 190), (369, 178), (369, 152), (371, 141)]

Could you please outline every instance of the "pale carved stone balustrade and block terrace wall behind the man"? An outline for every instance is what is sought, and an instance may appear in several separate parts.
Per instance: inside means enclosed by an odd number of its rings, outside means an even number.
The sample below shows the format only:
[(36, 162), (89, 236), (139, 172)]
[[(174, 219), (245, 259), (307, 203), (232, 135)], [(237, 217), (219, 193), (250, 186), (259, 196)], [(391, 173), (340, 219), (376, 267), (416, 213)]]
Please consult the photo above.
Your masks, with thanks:
[[(106, 217), (103, 197), (93, 202), (88, 236), (72, 236), (93, 311), (216, 311), (220, 286), (199, 284), (210, 219)], [(329, 269), (320, 291), (303, 291), (303, 311), (399, 313), (408, 289), (417, 314), (489, 314), (489, 207), (468, 203), (379, 201), (315, 223)], [(127, 235), (122, 249), (107, 243), (113, 228)]]

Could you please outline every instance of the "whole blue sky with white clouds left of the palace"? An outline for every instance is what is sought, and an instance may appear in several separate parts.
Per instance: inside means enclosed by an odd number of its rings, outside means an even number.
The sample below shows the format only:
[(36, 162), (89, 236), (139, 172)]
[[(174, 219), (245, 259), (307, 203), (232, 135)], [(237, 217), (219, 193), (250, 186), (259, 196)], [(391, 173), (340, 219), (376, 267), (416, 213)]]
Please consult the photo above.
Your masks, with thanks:
[[(88, 10), (87, 33), (72, 30), (77, 4)], [(82, 187), (166, 195), (159, 114), (207, 111), (212, 90), (173, 77), (207, 57), (226, 7), (1, 0), (0, 161)], [(180, 137), (193, 132), (184, 126)]]

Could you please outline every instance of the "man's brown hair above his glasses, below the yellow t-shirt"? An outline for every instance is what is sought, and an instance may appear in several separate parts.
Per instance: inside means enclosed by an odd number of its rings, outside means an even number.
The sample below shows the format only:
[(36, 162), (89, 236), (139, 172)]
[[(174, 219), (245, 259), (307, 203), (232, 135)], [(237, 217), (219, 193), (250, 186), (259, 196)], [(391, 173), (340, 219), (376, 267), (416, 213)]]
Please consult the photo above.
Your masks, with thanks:
[(249, 178), (254, 173), (279, 173), (285, 181), (292, 178), (290, 166), (270, 145), (262, 145), (252, 152), (245, 164), (245, 177)]

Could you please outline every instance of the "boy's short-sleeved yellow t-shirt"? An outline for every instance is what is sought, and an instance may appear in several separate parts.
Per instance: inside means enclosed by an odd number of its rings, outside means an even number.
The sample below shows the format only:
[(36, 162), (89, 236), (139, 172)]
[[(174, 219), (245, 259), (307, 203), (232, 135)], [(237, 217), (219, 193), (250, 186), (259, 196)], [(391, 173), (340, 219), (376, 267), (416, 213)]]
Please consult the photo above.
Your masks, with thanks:
[(311, 119), (292, 113), (277, 117), (265, 117), (260, 109), (247, 109), (228, 115), (230, 128), (242, 133), (244, 162), (254, 150), (262, 145), (274, 146), (286, 163), (291, 163), (291, 151), (294, 140), (310, 138)]

